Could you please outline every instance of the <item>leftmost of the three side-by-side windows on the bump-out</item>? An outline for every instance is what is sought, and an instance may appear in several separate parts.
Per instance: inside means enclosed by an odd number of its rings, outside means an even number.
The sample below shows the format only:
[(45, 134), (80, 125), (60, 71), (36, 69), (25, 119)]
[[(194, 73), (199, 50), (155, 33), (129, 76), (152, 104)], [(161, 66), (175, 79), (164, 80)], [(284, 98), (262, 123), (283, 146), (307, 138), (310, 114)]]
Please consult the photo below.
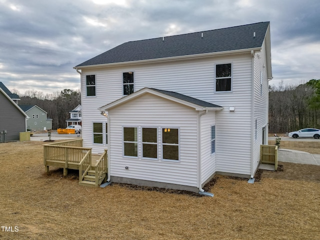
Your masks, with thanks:
[(123, 127), (123, 155), (138, 156), (137, 127)]

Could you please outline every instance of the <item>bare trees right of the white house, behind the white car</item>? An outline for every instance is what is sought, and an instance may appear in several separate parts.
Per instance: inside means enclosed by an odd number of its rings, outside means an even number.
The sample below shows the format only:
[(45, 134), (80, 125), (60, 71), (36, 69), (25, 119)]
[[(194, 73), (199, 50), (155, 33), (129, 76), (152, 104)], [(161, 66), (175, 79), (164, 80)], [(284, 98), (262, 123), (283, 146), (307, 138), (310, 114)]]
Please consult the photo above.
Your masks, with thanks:
[(269, 86), (269, 133), (320, 128), (320, 79)]

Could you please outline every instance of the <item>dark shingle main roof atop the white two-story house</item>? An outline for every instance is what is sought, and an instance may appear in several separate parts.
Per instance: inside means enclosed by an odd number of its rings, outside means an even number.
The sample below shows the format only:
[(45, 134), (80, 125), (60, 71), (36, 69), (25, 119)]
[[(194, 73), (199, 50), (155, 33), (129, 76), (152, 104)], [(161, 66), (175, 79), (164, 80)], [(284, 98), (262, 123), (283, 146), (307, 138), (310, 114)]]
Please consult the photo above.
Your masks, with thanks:
[(266, 21), (165, 36), (163, 41), (162, 37), (128, 41), (75, 67), (261, 47), (268, 25)]

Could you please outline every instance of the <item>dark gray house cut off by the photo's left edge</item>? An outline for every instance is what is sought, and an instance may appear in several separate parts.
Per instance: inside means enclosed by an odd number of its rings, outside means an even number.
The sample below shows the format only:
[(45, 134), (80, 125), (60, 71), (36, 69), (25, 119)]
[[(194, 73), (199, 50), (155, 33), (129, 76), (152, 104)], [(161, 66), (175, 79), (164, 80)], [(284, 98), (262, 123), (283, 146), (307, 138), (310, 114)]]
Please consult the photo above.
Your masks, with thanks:
[(0, 82), (0, 142), (19, 140), (19, 133), (26, 131), (27, 115), (16, 104), (17, 100), (19, 96)]

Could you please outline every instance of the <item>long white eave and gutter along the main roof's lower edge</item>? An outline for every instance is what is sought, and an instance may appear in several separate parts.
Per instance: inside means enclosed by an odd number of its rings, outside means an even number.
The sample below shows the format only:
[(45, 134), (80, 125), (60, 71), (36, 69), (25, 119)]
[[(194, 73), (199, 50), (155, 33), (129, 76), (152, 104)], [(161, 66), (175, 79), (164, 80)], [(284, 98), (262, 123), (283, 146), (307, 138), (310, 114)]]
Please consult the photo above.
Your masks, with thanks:
[(200, 53), (200, 54), (192, 54), (192, 55), (183, 55), (183, 56), (170, 56), (170, 57), (161, 57), (161, 58), (151, 58), (144, 60), (134, 60), (134, 61), (122, 61), (122, 62), (112, 62), (112, 63), (103, 63), (103, 64), (94, 64), (94, 65), (84, 65), (84, 66), (74, 66), (74, 69), (83, 69), (83, 68), (91, 68), (91, 67), (104, 67), (104, 66), (115, 66), (115, 65), (123, 65), (128, 63), (145, 63), (145, 62), (158, 62), (163, 60), (179, 60), (186, 58), (197, 58), (197, 57), (206, 57), (213, 55), (221, 55), (221, 54), (232, 54), (232, 53), (242, 53), (242, 52), (251, 52), (261, 50), (261, 47), (253, 47), (253, 48), (245, 48), (245, 49), (237, 49), (237, 50), (229, 50), (229, 51), (217, 51), (217, 52), (208, 52), (208, 53)]

